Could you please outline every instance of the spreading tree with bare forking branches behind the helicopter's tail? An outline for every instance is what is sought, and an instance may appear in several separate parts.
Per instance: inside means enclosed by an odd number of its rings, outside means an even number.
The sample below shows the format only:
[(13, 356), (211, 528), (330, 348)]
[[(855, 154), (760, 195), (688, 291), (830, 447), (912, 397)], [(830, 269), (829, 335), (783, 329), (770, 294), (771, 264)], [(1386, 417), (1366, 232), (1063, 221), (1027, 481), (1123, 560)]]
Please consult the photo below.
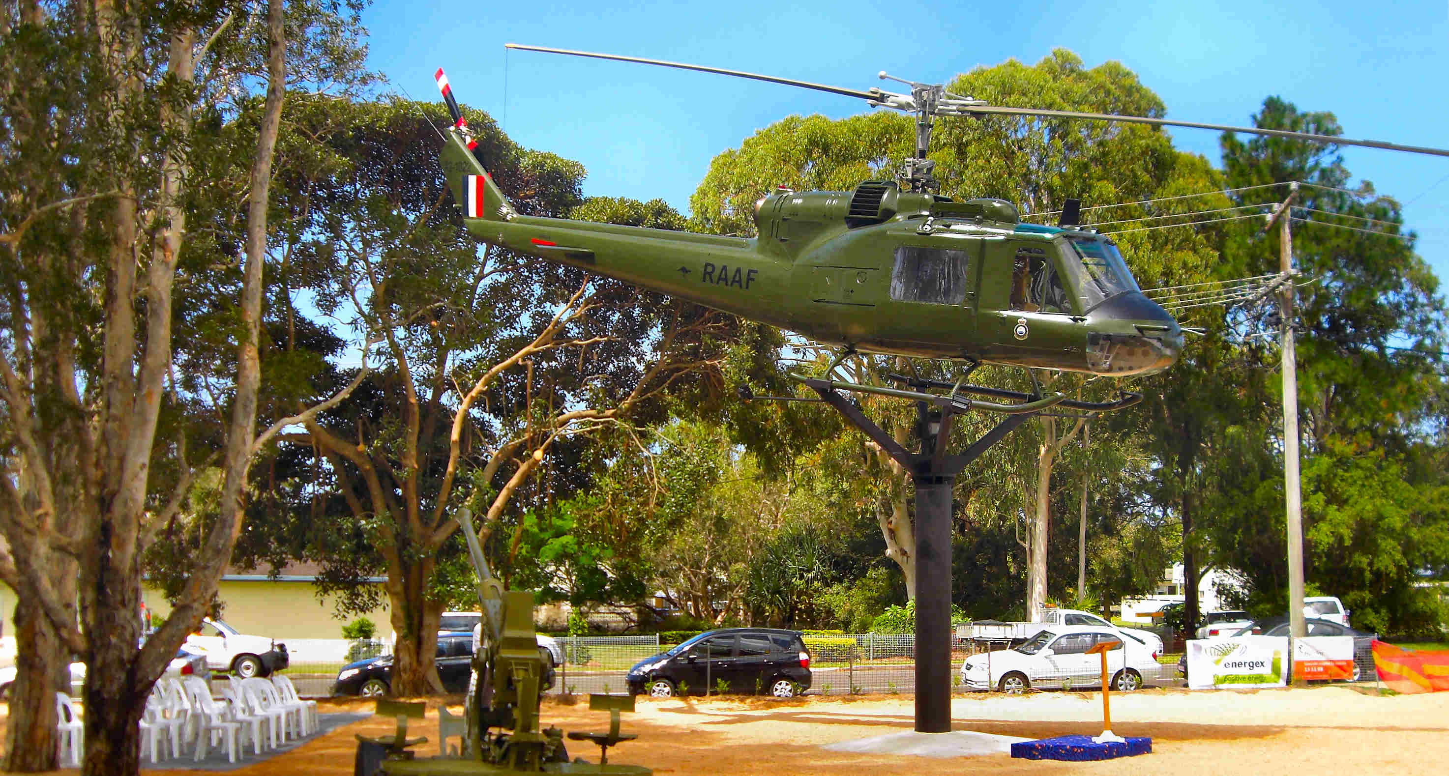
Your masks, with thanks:
[[(581, 201), (582, 168), (513, 145), (469, 111), (480, 152), (526, 213), (678, 224), (662, 203)], [(310, 126), (345, 126), (333, 162), (293, 188), (307, 229), (298, 262), (314, 268), (317, 310), (375, 333), (380, 360), (356, 397), (281, 436), (316, 450), (365, 526), (387, 575), (397, 633), (393, 686), (440, 691), (433, 640), (446, 595), (454, 510), (481, 515), (480, 540), (509, 579), (530, 565), (527, 505), (568, 499), (587, 437), (662, 417), (665, 397), (707, 404), (730, 339), (726, 317), (620, 282), (478, 246), (436, 164), (439, 107), (401, 100), (327, 106)], [(303, 316), (301, 310), (294, 311)], [(325, 376), (314, 391), (327, 391)], [(522, 499), (519, 497), (523, 497)], [(522, 501), (522, 505), (516, 502)], [(535, 510), (535, 518), (546, 511)], [(455, 552), (455, 550), (452, 550)], [(333, 557), (348, 563), (348, 559)]]

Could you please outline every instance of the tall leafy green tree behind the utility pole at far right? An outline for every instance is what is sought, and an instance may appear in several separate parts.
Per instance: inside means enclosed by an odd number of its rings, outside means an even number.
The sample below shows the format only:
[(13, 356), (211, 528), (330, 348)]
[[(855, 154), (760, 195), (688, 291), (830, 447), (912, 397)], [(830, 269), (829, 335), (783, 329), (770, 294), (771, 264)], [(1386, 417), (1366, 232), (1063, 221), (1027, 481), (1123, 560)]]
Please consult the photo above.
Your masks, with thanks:
[[(1300, 111), (1277, 97), (1253, 120), (1340, 133), (1332, 113)], [(1403, 233), (1398, 203), (1366, 181), (1353, 187), (1336, 146), (1224, 135), (1223, 161), (1230, 187), (1261, 187), (1236, 194), (1242, 204), (1281, 201), (1285, 184), (1303, 184), (1294, 259), (1314, 279), (1298, 290), (1297, 321), (1307, 582), (1343, 598), (1359, 627), (1430, 631), (1439, 612), (1414, 582), (1449, 556), (1445, 481), (1442, 471), (1423, 465), (1437, 455), (1432, 450), (1445, 418), (1437, 279), (1414, 255), (1413, 235)], [(1229, 258), (1245, 274), (1277, 271), (1277, 242), (1253, 240), (1245, 230), (1229, 243)], [(1252, 323), (1277, 327), (1275, 320)], [(1268, 349), (1249, 353), (1265, 366), (1278, 358)], [(1274, 417), (1281, 405), (1269, 398), (1262, 414)], [(1220, 473), (1224, 508), (1210, 528), (1213, 552), (1245, 572), (1255, 611), (1281, 614), (1281, 431), (1271, 426), (1236, 434), (1268, 455)]]

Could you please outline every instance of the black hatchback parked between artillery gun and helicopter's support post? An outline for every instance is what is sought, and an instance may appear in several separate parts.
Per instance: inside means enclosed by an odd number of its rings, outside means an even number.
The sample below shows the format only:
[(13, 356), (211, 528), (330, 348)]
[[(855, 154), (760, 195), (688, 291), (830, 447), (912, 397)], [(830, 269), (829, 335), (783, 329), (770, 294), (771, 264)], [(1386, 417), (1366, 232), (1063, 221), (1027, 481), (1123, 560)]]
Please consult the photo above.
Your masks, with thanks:
[(629, 692), (655, 698), (706, 692), (769, 693), (790, 698), (810, 689), (810, 651), (800, 631), (723, 628), (629, 669)]

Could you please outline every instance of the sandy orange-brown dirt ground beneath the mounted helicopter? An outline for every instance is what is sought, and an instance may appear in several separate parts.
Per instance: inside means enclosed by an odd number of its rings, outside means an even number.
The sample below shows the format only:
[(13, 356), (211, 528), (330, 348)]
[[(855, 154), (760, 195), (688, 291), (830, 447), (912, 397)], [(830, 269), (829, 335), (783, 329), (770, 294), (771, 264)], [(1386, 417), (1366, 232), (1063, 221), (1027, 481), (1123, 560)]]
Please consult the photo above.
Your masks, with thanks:
[[(1368, 688), (1372, 692), (1372, 688)], [(364, 702), (323, 702), (327, 711), (365, 711)], [(456, 709), (455, 709), (456, 711)], [(1052, 775), (1262, 775), (1262, 773), (1445, 773), (1449, 763), (1449, 692), (1377, 696), (1348, 686), (1269, 691), (1145, 691), (1113, 695), (1113, 728), (1152, 737), (1152, 754), (1094, 763), (1013, 760), (1007, 754), (935, 759), (827, 751), (822, 744), (911, 730), (913, 698), (801, 698), (793, 701), (640, 699), (625, 715), (625, 731), (639, 740), (610, 750), (610, 760), (638, 763), (658, 775), (829, 775), (907, 772)], [(1027, 738), (1097, 734), (1101, 696), (1042, 692), (1007, 698), (972, 695), (952, 702), (955, 730)], [(607, 730), (607, 715), (587, 702), (548, 702), (546, 724), (565, 730)], [(0, 717), (3, 722), (3, 717)], [(354, 734), (385, 734), (391, 721), (346, 725), (294, 751), (226, 772), (235, 776), (349, 776)], [(429, 735), (419, 756), (436, 753), (436, 711), (410, 733)], [(571, 743), (572, 756), (596, 760), (598, 750)], [(143, 773), (148, 773), (143, 770)]]

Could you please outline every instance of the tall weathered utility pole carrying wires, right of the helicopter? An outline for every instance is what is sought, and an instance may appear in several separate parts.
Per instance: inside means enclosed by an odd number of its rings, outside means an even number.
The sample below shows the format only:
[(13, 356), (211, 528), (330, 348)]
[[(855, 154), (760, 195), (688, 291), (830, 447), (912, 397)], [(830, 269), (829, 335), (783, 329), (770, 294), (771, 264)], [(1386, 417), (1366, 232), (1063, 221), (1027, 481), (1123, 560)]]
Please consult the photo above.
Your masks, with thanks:
[(1279, 330), (1282, 336), (1282, 481), (1288, 523), (1288, 623), (1294, 638), (1308, 636), (1303, 617), (1303, 494), (1298, 481), (1298, 366), (1293, 342), (1293, 200), (1298, 182), (1290, 184), (1288, 198), (1268, 217), (1264, 232), (1278, 222), (1278, 297)]

